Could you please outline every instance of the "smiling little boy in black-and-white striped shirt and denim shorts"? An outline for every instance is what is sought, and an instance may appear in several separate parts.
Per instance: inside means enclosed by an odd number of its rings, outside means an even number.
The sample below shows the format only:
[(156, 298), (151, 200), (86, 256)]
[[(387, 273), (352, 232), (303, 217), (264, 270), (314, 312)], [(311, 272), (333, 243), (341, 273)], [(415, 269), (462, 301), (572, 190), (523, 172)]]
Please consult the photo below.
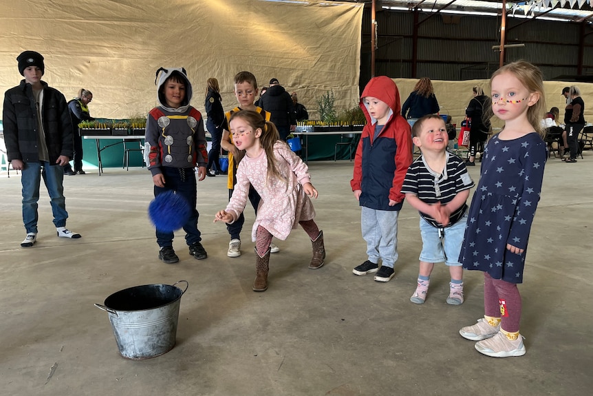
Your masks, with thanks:
[(435, 114), (412, 127), (412, 141), (422, 155), (408, 168), (402, 193), (420, 212), (422, 252), (418, 287), (410, 298), (424, 303), (435, 262), (449, 267), (451, 282), (447, 304), (463, 302), (463, 269), (459, 262), (467, 222), (466, 200), (473, 187), (464, 161), (446, 151), (449, 143), (443, 119)]

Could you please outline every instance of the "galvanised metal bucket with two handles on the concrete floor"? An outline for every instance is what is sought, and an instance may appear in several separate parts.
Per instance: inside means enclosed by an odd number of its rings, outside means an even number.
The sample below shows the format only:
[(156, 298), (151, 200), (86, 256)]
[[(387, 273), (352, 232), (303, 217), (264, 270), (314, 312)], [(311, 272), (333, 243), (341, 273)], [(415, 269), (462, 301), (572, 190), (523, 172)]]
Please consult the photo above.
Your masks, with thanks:
[[(185, 290), (177, 286), (185, 282)], [(189, 284), (180, 280), (173, 285), (145, 284), (109, 295), (105, 306), (109, 313), (118, 348), (128, 359), (148, 359), (171, 351), (175, 346), (181, 296)]]

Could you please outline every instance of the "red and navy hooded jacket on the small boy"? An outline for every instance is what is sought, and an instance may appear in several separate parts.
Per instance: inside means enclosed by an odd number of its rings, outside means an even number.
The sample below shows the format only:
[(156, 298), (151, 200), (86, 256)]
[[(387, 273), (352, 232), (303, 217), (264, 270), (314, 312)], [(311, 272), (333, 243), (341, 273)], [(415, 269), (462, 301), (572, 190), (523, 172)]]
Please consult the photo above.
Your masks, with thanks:
[[(390, 116), (375, 136), (376, 118), (364, 103), (367, 96), (387, 103)], [(409, 123), (400, 114), (400, 93), (387, 76), (374, 77), (360, 96), (360, 109), (367, 118), (354, 158), (352, 191), (361, 190), (360, 206), (376, 210), (402, 209), (405, 195), (400, 191), (412, 162), (412, 138)], [(389, 200), (398, 202), (389, 206)]]

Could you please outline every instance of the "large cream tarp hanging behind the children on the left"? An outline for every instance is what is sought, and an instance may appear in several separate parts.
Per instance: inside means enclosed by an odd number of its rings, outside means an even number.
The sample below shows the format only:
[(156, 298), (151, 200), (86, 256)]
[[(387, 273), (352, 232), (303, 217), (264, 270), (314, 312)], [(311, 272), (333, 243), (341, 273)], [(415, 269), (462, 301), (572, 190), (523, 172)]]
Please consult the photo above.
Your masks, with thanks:
[(16, 58), (34, 50), (45, 57), (43, 80), (67, 100), (80, 88), (93, 92), (95, 117), (147, 114), (161, 66), (186, 68), (191, 104), (202, 112), (209, 77), (221, 85), (225, 110), (235, 107), (233, 76), (241, 70), (260, 87), (279, 79), (312, 115), (327, 90), (338, 108), (358, 101), (360, 4), (0, 0), (0, 10), (0, 91), (19, 84)]

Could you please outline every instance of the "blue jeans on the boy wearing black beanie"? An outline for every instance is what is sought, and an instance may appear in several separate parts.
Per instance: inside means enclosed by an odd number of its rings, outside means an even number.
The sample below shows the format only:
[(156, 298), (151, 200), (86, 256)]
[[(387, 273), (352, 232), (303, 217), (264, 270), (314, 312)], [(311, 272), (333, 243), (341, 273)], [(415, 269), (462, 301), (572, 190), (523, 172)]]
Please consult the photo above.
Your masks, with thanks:
[(47, 161), (39, 163), (25, 163), (21, 171), (21, 184), (23, 185), (23, 223), (27, 233), (37, 232), (37, 202), (39, 201), (39, 186), (41, 177), (50, 194), (50, 205), (54, 213), (54, 225), (66, 227), (68, 212), (66, 211), (66, 198), (64, 198), (64, 167), (50, 165)]

